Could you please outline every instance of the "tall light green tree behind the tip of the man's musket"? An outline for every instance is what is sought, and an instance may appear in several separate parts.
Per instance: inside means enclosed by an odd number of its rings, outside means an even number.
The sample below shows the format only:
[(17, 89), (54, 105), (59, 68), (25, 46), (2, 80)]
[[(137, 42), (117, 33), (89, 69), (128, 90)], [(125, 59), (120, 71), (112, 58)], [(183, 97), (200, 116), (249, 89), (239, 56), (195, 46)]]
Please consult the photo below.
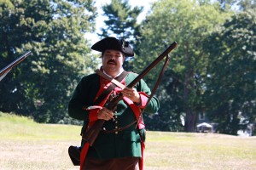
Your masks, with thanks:
[[(137, 47), (140, 56), (147, 57), (135, 59), (134, 68), (140, 71), (143, 65), (148, 65), (173, 41), (177, 41), (178, 47), (173, 50), (171, 64), (166, 71), (166, 75), (172, 77), (164, 77), (164, 85), (158, 92), (161, 103), (166, 104), (160, 104), (159, 115), (165, 117), (166, 122), (170, 122), (168, 119), (179, 119), (184, 114), (186, 132), (194, 132), (197, 114), (205, 111), (202, 100), (202, 77), (206, 74), (207, 63), (202, 48), (204, 37), (218, 29), (229, 17), (230, 13), (220, 10), (219, 3), (162, 0), (154, 3), (152, 14), (143, 22), (143, 39)], [(157, 71), (159, 68), (146, 77), (146, 81), (155, 82)], [(172, 102), (169, 102), (170, 99)], [(171, 105), (167, 105), (168, 103)]]

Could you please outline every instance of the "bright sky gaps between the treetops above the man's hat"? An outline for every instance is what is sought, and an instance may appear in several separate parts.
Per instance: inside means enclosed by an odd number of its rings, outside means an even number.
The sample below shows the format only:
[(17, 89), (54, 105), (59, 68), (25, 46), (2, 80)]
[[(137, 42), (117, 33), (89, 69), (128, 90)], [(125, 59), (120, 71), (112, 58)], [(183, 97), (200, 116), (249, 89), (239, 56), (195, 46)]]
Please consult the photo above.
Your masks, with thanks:
[[(148, 13), (150, 9), (150, 4), (154, 3), (156, 0), (129, 0), (128, 2), (130, 3), (131, 7), (134, 6), (142, 6), (143, 7), (143, 12), (140, 14), (137, 18), (137, 22), (140, 23)], [(98, 9), (98, 16), (96, 18), (96, 32), (100, 33), (102, 26), (104, 26), (104, 20), (106, 20), (106, 17), (103, 16), (103, 11), (102, 11), (102, 6), (105, 4), (111, 3), (111, 0), (105, 0), (105, 1), (96, 1), (96, 7)], [(85, 35), (92, 44), (95, 42), (98, 42), (100, 38), (96, 35), (96, 33), (91, 34), (87, 33)]]

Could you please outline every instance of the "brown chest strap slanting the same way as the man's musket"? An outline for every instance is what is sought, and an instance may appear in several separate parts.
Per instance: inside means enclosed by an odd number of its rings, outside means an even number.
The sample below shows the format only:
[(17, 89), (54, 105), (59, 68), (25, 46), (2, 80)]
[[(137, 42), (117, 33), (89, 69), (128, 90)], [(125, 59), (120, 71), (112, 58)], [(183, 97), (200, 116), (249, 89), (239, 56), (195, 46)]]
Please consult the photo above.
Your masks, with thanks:
[[(96, 72), (97, 73), (97, 72)], [(121, 82), (126, 75), (128, 74), (127, 71), (123, 71), (119, 77), (117, 77), (115, 80), (118, 82)], [(100, 75), (101, 76), (101, 75)], [(105, 99), (108, 94), (110, 94), (113, 91), (113, 88), (117, 87), (117, 85), (115, 83), (112, 83), (104, 92), (102, 92), (102, 94), (96, 99), (96, 101), (94, 102), (94, 105), (98, 105), (102, 102), (103, 99)]]

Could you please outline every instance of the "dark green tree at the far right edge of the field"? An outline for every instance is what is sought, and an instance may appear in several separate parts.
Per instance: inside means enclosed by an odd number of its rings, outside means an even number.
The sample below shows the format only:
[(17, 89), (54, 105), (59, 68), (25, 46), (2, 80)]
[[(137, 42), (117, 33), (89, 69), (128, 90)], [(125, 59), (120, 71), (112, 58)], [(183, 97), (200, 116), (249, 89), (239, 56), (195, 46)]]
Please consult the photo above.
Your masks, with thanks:
[[(207, 38), (209, 116), (219, 133), (237, 134), (256, 121), (256, 12), (235, 14)], [(211, 42), (211, 46), (207, 45)], [(218, 50), (217, 50), (218, 49)]]

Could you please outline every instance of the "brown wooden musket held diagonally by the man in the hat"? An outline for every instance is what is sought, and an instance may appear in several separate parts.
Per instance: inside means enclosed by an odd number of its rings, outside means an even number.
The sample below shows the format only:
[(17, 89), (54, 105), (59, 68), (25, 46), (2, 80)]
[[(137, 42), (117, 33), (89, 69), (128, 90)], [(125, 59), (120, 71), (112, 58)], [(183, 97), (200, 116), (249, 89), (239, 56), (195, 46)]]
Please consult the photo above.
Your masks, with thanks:
[[(148, 65), (147, 68), (145, 68), (130, 84), (127, 85), (128, 88), (134, 87), (137, 82), (139, 82), (152, 68), (154, 68), (155, 65), (157, 65), (161, 59), (164, 59), (171, 51), (172, 49), (177, 47), (177, 42), (173, 42), (169, 48), (166, 48), (166, 50), (160, 54), (160, 56), (157, 59), (154, 59), (154, 61)], [(108, 110), (114, 111), (116, 109), (116, 105), (118, 105), (119, 101), (123, 99), (123, 94), (117, 95), (111, 102), (106, 106)], [(98, 136), (98, 134), (102, 130), (102, 126), (104, 124), (105, 120), (99, 119), (97, 120), (89, 129), (84, 133), (83, 139), (87, 141), (90, 146), (92, 146)]]

